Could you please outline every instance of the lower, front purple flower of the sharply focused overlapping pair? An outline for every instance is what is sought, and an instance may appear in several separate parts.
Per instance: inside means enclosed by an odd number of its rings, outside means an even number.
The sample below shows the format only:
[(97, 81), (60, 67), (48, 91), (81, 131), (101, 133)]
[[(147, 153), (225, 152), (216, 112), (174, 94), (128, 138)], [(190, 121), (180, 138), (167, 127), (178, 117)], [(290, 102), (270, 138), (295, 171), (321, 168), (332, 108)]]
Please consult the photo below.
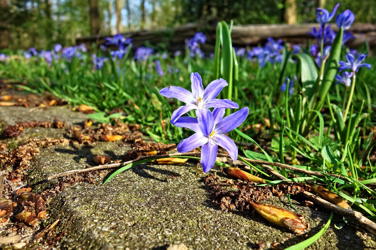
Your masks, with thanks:
[(196, 132), (177, 145), (180, 153), (201, 148), (201, 165), (204, 172), (208, 172), (215, 164), (218, 146), (226, 149), (233, 161), (238, 158), (238, 148), (226, 136), (226, 133), (239, 127), (248, 116), (248, 108), (244, 107), (229, 116), (224, 116), (224, 108), (214, 108), (213, 112), (200, 108), (194, 117), (180, 117), (174, 124), (176, 127), (185, 127)]

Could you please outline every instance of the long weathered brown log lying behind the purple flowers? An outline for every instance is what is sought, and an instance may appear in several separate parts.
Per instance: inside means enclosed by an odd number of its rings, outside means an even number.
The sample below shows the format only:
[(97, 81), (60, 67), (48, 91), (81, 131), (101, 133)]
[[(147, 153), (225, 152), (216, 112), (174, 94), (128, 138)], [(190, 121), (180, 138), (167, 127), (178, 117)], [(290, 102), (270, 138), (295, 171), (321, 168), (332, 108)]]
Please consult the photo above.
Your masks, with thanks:
[[(311, 35), (308, 35), (313, 27), (319, 27), (319, 24), (253, 24), (232, 27), (232, 44), (234, 47), (254, 47), (259, 44), (264, 45), (268, 37), (274, 39), (282, 39), (291, 44), (306, 44), (311, 39), (315, 42)], [(132, 38), (134, 48), (145, 46), (148, 41), (152, 45), (164, 44), (168, 51), (174, 52), (177, 50), (184, 50), (186, 39), (190, 39), (198, 30), (202, 30), (202, 26), (198, 24), (185, 24), (174, 29), (164, 29), (157, 31), (139, 31), (124, 33), (124, 37)], [(338, 28), (332, 24), (332, 28), (337, 31)], [(204, 32), (208, 37), (206, 44), (202, 46), (205, 53), (214, 51), (215, 44), (215, 26), (207, 27), (207, 32)], [(348, 31), (351, 31), (356, 37), (347, 42), (350, 48), (356, 48), (365, 41), (368, 42), (371, 48), (376, 46), (376, 25), (367, 23), (353, 24)], [(97, 45), (104, 44), (105, 38), (108, 35), (90, 36), (77, 38), (76, 43)]]

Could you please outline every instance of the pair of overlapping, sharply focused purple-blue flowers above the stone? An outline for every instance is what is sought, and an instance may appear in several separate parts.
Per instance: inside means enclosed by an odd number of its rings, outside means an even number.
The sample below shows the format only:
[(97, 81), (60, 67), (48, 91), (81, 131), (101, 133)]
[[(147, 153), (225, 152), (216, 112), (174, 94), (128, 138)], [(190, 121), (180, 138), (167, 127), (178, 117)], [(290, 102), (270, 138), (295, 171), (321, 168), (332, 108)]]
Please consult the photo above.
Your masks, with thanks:
[[(161, 89), (159, 93), (186, 103), (173, 112), (170, 122), (176, 127), (189, 128), (196, 133), (183, 139), (177, 145), (177, 151), (188, 152), (201, 146), (200, 163), (206, 173), (215, 164), (218, 146), (226, 149), (233, 161), (237, 159), (238, 148), (226, 133), (239, 127), (247, 118), (249, 110), (244, 107), (223, 118), (226, 108), (239, 108), (238, 104), (229, 99), (216, 99), (223, 87), (228, 85), (226, 80), (214, 80), (204, 90), (201, 76), (192, 73), (191, 83), (192, 92), (170, 86)], [(182, 116), (190, 110), (196, 110), (197, 118)]]

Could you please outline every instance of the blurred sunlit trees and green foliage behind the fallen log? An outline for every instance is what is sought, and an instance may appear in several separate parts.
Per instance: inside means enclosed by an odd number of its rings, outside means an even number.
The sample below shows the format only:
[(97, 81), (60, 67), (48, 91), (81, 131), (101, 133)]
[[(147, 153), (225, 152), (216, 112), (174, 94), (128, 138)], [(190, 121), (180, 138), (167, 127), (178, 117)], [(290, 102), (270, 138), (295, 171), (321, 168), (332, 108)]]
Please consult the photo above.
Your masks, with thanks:
[[(11, 49), (53, 44), (72, 45), (77, 36), (88, 36), (90, 4), (99, 12), (100, 34), (140, 29), (155, 30), (188, 22), (233, 20), (238, 24), (284, 23), (286, 0), (0, 0), (0, 31), (8, 29)], [(351, 9), (356, 22), (376, 23), (374, 0), (295, 0), (297, 23), (315, 21), (315, 7), (338, 13)], [(7, 5), (7, 6), (6, 6)], [(1, 7), (6, 6), (6, 7)], [(97, 35), (96, 33), (93, 33)]]

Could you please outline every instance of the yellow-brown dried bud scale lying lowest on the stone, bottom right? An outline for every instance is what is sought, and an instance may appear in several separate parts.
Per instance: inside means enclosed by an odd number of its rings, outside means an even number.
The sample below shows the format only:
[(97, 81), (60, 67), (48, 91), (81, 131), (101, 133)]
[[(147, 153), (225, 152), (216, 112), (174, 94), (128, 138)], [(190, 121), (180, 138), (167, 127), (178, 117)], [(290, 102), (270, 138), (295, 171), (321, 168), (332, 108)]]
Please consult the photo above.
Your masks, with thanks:
[(302, 235), (304, 230), (307, 229), (307, 224), (302, 217), (298, 217), (296, 214), (269, 204), (258, 204), (250, 202), (256, 211), (262, 215), (265, 219), (273, 222), (277, 226), (284, 227), (291, 232)]

